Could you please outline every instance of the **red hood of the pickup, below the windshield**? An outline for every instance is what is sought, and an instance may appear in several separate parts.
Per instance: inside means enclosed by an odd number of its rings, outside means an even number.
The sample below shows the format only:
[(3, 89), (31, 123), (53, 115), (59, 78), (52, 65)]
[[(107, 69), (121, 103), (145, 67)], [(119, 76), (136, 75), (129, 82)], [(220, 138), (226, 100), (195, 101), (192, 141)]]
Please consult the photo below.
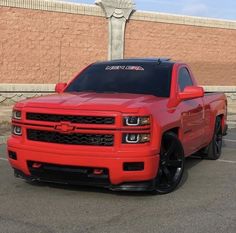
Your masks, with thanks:
[(152, 95), (83, 92), (41, 96), (21, 101), (16, 106), (50, 109), (138, 112), (140, 108), (148, 108), (149, 105), (158, 99), (163, 98)]

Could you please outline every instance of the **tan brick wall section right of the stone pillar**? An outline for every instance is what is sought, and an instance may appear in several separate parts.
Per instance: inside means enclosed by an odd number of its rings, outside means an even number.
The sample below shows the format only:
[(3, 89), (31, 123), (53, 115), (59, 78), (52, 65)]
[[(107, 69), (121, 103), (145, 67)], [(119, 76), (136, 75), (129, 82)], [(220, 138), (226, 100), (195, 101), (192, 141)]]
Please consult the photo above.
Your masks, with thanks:
[(171, 57), (189, 63), (202, 85), (236, 85), (236, 30), (130, 20), (126, 57)]

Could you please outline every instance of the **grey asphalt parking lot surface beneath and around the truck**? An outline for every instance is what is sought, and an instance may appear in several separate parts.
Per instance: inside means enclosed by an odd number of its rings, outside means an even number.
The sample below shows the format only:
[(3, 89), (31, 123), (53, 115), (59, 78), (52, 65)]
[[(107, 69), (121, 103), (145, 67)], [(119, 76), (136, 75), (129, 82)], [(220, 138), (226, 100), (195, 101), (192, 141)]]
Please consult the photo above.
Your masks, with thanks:
[(236, 232), (236, 130), (219, 160), (187, 159), (168, 195), (28, 184), (14, 178), (0, 147), (0, 233)]

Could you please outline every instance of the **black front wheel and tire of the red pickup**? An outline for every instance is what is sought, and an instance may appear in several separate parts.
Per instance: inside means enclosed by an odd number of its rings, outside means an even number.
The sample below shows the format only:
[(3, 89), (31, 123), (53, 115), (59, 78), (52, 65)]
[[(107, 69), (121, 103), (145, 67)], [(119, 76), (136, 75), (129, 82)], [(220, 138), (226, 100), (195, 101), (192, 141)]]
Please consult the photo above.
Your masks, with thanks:
[(184, 173), (184, 151), (176, 134), (163, 135), (160, 151), (159, 170), (155, 179), (155, 193), (166, 194), (180, 184)]

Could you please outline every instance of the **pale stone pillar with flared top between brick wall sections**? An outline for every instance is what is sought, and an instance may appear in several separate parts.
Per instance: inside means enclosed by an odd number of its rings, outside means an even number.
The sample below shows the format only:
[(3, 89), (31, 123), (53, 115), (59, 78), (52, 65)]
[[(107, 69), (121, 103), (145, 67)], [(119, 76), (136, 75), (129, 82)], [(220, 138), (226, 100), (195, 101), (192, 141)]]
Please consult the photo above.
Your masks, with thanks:
[(125, 25), (134, 11), (133, 0), (96, 0), (109, 20), (108, 59), (124, 57)]

